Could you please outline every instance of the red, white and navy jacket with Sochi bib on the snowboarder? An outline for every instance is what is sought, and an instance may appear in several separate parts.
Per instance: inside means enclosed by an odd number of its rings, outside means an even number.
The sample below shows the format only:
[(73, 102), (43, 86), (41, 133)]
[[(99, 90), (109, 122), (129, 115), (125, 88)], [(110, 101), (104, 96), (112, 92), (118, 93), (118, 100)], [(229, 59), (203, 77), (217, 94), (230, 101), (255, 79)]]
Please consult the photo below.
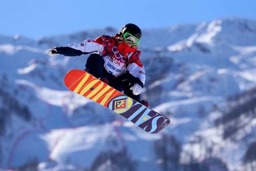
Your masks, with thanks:
[(106, 71), (115, 77), (129, 72), (132, 76), (140, 79), (143, 85), (145, 83), (145, 70), (139, 58), (141, 51), (136, 50), (127, 54), (120, 53), (113, 36), (102, 35), (97, 39), (86, 39), (84, 43), (57, 47), (56, 50), (58, 54), (65, 56), (79, 56), (98, 52), (105, 61)]

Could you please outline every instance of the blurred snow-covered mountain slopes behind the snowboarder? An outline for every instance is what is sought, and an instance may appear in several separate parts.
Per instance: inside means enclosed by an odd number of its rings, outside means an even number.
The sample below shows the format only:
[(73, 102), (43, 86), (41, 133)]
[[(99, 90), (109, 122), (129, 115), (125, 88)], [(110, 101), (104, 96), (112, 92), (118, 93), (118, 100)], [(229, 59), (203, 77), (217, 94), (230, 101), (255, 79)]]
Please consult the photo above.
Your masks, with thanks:
[(88, 55), (47, 55), (117, 32), (0, 35), (0, 171), (255, 171), (256, 21), (142, 29), (142, 98), (171, 120), (158, 134), (64, 86)]

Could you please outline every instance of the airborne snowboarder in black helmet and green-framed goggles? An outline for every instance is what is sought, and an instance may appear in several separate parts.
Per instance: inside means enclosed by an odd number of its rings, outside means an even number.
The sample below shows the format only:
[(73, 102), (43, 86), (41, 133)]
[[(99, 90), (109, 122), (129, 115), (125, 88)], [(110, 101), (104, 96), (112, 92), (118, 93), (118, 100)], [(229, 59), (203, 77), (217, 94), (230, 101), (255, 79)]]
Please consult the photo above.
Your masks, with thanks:
[(84, 71), (148, 107), (146, 100), (140, 101), (145, 83), (145, 70), (139, 58), (141, 51), (137, 50), (141, 35), (138, 26), (126, 24), (115, 36), (102, 35), (80, 44), (53, 47), (48, 54), (80, 56), (92, 53)]

